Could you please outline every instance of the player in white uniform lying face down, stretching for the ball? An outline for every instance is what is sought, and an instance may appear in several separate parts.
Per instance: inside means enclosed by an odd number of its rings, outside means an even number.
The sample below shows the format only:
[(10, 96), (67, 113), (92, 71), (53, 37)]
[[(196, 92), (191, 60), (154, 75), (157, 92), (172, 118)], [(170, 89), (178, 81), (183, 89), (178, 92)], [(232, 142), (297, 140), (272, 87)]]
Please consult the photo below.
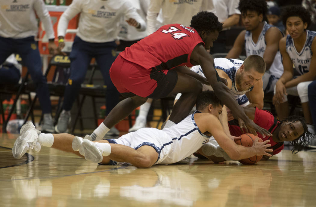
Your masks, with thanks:
[[(40, 150), (40, 146), (82, 155), (86, 160), (102, 164), (132, 164), (146, 168), (154, 164), (172, 164), (196, 152), (213, 136), (227, 154), (235, 160), (254, 155), (271, 156), (267, 149), (269, 140), (259, 143), (257, 138), (252, 147), (234, 143), (235, 137), (228, 137), (218, 119), (222, 103), (213, 91), (204, 91), (197, 98), (197, 111), (180, 123), (162, 131), (155, 128), (142, 128), (123, 135), (119, 139), (91, 142), (70, 134), (44, 134), (37, 131), (32, 123), (21, 128), (12, 148), (16, 159), (28, 149)], [(88, 139), (89, 138), (89, 139)]]

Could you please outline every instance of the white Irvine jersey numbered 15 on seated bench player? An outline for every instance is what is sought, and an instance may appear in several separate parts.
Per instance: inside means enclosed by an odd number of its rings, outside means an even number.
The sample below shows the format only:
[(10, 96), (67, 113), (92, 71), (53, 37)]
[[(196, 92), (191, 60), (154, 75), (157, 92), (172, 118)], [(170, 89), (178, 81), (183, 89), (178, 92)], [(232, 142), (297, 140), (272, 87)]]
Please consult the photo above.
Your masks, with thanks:
[(290, 35), (286, 37), (286, 52), (289, 54), (297, 72), (301, 75), (309, 71), (309, 65), (313, 56), (312, 43), (316, 32), (306, 30), (306, 41), (303, 49), (297, 52), (294, 41)]

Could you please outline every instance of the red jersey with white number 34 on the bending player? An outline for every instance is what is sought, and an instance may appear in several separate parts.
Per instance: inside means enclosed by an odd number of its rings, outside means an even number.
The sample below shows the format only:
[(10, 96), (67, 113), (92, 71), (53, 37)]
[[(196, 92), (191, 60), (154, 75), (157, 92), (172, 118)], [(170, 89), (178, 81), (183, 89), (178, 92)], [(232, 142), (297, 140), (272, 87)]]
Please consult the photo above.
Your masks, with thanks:
[(191, 67), (191, 53), (199, 43), (204, 45), (194, 28), (169, 24), (126, 47), (119, 55), (145, 69), (170, 70), (181, 65)]

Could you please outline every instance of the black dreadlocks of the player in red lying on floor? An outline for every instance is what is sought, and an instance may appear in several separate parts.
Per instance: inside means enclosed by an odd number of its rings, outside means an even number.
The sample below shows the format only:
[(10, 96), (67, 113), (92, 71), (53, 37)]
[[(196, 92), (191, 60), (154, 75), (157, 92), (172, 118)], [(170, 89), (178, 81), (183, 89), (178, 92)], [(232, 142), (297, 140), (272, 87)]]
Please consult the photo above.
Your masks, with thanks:
[(301, 124), (303, 125), (304, 128), (304, 133), (299, 136), (298, 138), (296, 138), (295, 140), (291, 141), (291, 143), (293, 144), (293, 149), (292, 149), (292, 154), (293, 153), (298, 153), (299, 151), (301, 151), (304, 147), (308, 146), (309, 141), (312, 139), (313, 134), (311, 132), (308, 131), (308, 127), (306, 125), (305, 119), (304, 117), (301, 116), (289, 116), (288, 118), (280, 121), (281, 124), (283, 122), (290, 122), (293, 123), (295, 121), (300, 121)]

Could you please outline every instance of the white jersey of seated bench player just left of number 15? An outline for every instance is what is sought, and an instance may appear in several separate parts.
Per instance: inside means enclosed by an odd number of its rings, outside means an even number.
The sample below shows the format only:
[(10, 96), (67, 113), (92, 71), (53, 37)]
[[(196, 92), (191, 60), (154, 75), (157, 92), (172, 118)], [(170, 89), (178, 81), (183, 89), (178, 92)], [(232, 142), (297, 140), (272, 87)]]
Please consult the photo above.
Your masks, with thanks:
[[(268, 29), (274, 27), (267, 22), (264, 22), (263, 29), (259, 35), (257, 43), (254, 43), (252, 40), (252, 33), (250, 31), (246, 31), (245, 34), (245, 49), (246, 49), (246, 56), (249, 55), (259, 55), (263, 58), (264, 51), (266, 49), (266, 42), (264, 39), (265, 33)], [(270, 72), (276, 78), (280, 78), (283, 74), (283, 64), (280, 51), (276, 52), (276, 56), (272, 65), (270, 66)]]

